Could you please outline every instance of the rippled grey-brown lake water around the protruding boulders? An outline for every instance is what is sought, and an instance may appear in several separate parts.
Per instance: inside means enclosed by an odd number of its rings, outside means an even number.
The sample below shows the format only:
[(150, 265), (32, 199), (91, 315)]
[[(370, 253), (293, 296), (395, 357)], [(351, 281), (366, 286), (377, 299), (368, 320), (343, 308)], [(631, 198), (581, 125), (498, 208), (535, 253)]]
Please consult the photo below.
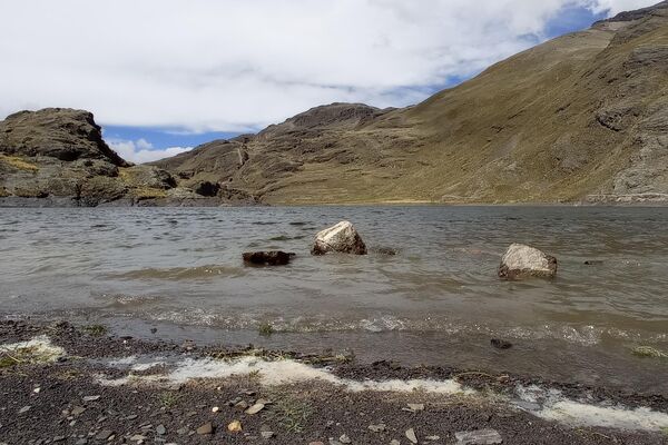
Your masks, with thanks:
[[(342, 219), (370, 255), (312, 257)], [(558, 277), (500, 280), (515, 241), (556, 256)], [(297, 256), (244, 266), (266, 249)], [(668, 349), (668, 208), (0, 209), (0, 276), (3, 317), (668, 394), (666, 362), (631, 353)]]

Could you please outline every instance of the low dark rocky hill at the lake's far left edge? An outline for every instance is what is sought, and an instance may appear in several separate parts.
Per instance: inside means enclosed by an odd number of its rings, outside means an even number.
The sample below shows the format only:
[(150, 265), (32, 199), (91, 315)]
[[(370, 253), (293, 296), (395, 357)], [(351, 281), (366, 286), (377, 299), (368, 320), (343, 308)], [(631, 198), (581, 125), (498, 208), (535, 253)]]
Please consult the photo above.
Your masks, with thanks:
[[(252, 201), (245, 195), (236, 197), (244, 202)], [(158, 167), (132, 166), (125, 161), (102, 140), (101, 129), (88, 111), (47, 108), (17, 112), (0, 121), (0, 205), (216, 205), (232, 201), (234, 199), (212, 197), (204, 189), (178, 187), (176, 179)]]

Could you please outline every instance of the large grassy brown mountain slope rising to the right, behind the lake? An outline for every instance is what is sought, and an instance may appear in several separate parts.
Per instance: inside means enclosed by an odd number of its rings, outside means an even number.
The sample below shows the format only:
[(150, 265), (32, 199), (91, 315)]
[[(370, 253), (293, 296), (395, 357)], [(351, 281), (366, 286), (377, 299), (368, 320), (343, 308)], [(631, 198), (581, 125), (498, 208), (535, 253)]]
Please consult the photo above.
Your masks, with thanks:
[(501, 61), (422, 103), (313, 108), (154, 162), (265, 202), (668, 200), (668, 2)]

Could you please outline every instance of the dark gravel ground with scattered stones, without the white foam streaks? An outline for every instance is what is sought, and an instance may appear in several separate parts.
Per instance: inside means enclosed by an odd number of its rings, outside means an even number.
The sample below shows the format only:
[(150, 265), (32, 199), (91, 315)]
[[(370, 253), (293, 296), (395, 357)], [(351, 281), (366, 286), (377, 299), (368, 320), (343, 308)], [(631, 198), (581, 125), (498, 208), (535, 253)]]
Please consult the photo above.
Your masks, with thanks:
[[(358, 364), (345, 357), (263, 352), (267, 359), (289, 357), (327, 366), (338, 377), (455, 378), (484, 397), (428, 392), (352, 392), (320, 382), (267, 385), (258, 373), (227, 378), (190, 379), (160, 385), (163, 365), (135, 370), (124, 385), (104, 386), (124, 377), (108, 359), (170, 355), (180, 359), (230, 359), (249, 350), (197, 347), (109, 336), (101, 326), (67, 323), (0, 323), (0, 345), (47, 335), (67, 352), (52, 362), (0, 353), (0, 444), (666, 444), (654, 432), (577, 428), (510, 408), (502, 394), (523, 377), (492, 376), (449, 368), (402, 368), (391, 362)], [(141, 382), (140, 382), (141, 380)], [(537, 380), (531, 380), (537, 382)], [(561, 385), (569, 394), (591, 392), (629, 406), (665, 411), (662, 396), (631, 396), (615, 390)], [(482, 431), (482, 432), (481, 432)], [(466, 436), (466, 432), (472, 432)]]

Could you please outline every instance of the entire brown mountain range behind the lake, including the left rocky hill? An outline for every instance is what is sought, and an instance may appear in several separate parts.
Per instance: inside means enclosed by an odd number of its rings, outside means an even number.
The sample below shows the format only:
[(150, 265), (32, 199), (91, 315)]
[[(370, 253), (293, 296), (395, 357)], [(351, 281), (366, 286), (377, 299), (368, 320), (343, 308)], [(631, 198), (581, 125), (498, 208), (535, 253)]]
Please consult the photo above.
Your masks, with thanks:
[(0, 122), (0, 205), (667, 202), (668, 1), (413, 107), (316, 107), (131, 166), (92, 115)]

